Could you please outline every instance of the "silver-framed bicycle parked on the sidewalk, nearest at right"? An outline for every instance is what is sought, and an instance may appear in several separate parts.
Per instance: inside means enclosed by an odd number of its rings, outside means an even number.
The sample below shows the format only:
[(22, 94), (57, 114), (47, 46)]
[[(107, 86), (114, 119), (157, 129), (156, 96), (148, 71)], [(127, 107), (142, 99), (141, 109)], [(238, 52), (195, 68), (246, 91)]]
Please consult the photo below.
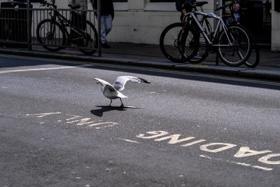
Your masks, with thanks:
[[(193, 10), (184, 15), (181, 23), (176, 23), (176, 27), (180, 26), (181, 30), (176, 37), (176, 45), (174, 44), (174, 46), (181, 55), (178, 57), (167, 53), (168, 46), (165, 45), (164, 40), (167, 30), (170, 30), (171, 26), (162, 32), (160, 38), (162, 53), (174, 62), (192, 62), (193, 57), (200, 53), (200, 48), (203, 46), (204, 53), (200, 55), (199, 60), (193, 62), (202, 62), (208, 56), (210, 49), (218, 51), (220, 59), (229, 66), (237, 67), (246, 62), (251, 54), (251, 40), (246, 28), (240, 25), (226, 26), (223, 19), (218, 15), (197, 11), (196, 6), (203, 6), (204, 4), (207, 4), (207, 2), (194, 2), (191, 4)], [(199, 21), (197, 15), (201, 15), (202, 20)], [(218, 20), (218, 25), (214, 32), (212, 32), (209, 24), (207, 24), (207, 27), (203, 27), (203, 23), (208, 22), (207, 18)], [(189, 36), (189, 33), (191, 36)], [(243, 43), (240, 40), (243, 40)], [(227, 48), (230, 48), (230, 50), (227, 51)], [(241, 48), (244, 48), (245, 51), (241, 51)], [(186, 53), (186, 50), (188, 50), (188, 53)], [(238, 57), (238, 60), (234, 60), (234, 57)]]

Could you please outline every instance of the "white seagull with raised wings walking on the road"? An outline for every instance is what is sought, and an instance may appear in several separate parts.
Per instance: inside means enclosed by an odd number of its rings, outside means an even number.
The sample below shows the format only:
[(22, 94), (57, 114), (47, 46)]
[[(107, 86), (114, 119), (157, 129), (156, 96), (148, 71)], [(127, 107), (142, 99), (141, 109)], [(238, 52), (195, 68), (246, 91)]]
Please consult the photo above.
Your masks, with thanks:
[(124, 107), (122, 98), (125, 98), (127, 96), (123, 95), (119, 91), (125, 89), (125, 83), (127, 83), (127, 81), (132, 81), (134, 83), (151, 83), (144, 78), (139, 78), (136, 76), (118, 76), (113, 85), (100, 78), (94, 78), (94, 80), (97, 81), (97, 84), (100, 83), (102, 85), (101, 90), (103, 92), (103, 95), (111, 100), (109, 106), (111, 106), (112, 104), (112, 99), (120, 99), (120, 102), (122, 103), (120, 107), (122, 108)]

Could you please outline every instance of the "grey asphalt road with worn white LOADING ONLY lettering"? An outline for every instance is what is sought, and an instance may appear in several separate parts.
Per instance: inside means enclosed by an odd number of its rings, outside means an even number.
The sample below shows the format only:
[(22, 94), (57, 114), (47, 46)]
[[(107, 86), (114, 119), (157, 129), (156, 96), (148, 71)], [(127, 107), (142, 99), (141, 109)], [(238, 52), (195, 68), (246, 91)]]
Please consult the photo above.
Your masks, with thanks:
[[(106, 99), (94, 78), (146, 78)], [(280, 186), (280, 84), (0, 57), (0, 186)]]

